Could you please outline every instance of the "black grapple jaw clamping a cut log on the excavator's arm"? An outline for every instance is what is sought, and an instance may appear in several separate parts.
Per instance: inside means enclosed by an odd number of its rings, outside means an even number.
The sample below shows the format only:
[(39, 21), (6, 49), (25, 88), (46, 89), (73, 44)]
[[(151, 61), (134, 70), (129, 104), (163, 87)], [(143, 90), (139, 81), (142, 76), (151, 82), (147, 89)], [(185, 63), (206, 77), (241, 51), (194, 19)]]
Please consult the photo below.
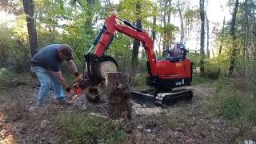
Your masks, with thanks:
[(81, 95), (84, 91), (90, 102), (98, 102), (102, 97), (105, 86), (106, 73), (118, 72), (118, 65), (114, 58), (108, 55), (98, 57), (95, 54), (86, 54), (87, 69), (83, 77), (74, 84), (74, 91)]

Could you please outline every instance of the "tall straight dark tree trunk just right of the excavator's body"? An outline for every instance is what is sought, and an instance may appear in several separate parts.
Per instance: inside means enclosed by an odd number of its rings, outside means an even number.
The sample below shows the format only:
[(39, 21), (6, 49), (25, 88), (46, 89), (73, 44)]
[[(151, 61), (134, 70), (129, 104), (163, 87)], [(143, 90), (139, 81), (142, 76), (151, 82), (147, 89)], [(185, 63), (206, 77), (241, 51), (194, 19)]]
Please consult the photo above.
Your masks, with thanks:
[(200, 0), (200, 17), (201, 17), (201, 44), (200, 44), (200, 72), (201, 75), (205, 74), (205, 11), (204, 11), (204, 0)]

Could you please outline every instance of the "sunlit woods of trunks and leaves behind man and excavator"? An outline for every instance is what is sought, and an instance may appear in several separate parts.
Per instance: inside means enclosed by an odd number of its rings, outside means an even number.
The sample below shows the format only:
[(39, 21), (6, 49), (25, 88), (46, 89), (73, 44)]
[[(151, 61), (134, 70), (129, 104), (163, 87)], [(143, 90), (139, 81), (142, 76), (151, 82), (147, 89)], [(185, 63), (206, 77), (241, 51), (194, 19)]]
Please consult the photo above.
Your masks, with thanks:
[[(194, 33), (197, 35), (194, 40), (200, 41), (200, 47), (188, 47), (189, 58), (195, 63), (194, 72), (197, 73), (200, 66), (202, 75), (249, 76), (254, 70), (255, 58), (255, 2), (226, 1), (222, 7), (230, 9), (232, 18), (219, 15), (224, 17), (222, 23), (209, 22), (208, 3), (199, 0), (196, 7), (185, 0), (122, 0), (118, 4), (98, 0), (4, 0), (0, 3), (1, 10), (12, 14), (15, 20), (1, 22), (0, 66), (29, 70), (31, 54), (51, 43), (73, 46), (76, 62), (83, 66), (83, 54), (102, 25), (95, 15), (115, 12), (148, 30), (158, 57), (174, 42), (190, 41)], [(175, 21), (180, 25), (175, 26)], [(123, 34), (117, 34), (117, 38), (108, 53), (116, 58), (121, 70), (132, 67), (137, 72), (145, 72), (146, 55), (138, 49), (140, 43)], [(211, 43), (210, 38), (214, 39)]]

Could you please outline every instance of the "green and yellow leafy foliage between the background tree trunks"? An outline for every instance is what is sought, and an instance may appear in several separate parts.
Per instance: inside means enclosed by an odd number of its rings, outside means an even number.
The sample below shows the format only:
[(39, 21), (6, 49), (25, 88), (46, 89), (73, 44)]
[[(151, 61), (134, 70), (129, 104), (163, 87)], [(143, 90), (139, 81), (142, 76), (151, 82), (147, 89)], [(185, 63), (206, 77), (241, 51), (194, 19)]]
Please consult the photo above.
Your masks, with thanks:
[[(139, 13), (136, 8), (138, 2), (142, 7)], [(189, 42), (193, 39), (191, 36), (200, 35), (201, 32), (199, 3), (198, 6), (193, 6), (193, 3), (187, 0), (121, 0), (119, 3), (99, 0), (34, 0), (38, 46), (42, 48), (50, 43), (70, 44), (75, 49), (76, 62), (83, 62), (83, 54), (89, 50), (95, 35), (102, 26), (102, 20), (96, 21), (95, 16), (99, 13), (106, 15), (115, 13), (118, 17), (128, 19), (133, 23), (141, 19), (142, 28), (147, 30), (148, 34), (152, 34), (154, 50), (159, 56), (162, 54), (162, 48), (170, 49), (174, 42), (180, 41), (178, 35), (181, 33), (181, 26), (174, 25), (175, 21), (180, 21), (178, 2), (184, 22), (183, 41)], [(230, 12), (234, 6), (235, 1), (226, 2), (226, 7), (230, 8)], [(234, 50), (234, 44), (237, 50), (234, 57), (234, 74), (250, 74), (254, 70), (255, 66), (251, 63), (256, 58), (254, 49), (256, 46), (255, 8), (256, 3), (253, 0), (239, 2), (234, 26), (235, 39), (230, 35), (231, 19), (225, 19), (221, 29), (210, 30), (210, 34), (214, 34), (214, 37), (211, 35), (210, 37), (214, 38), (212, 46), (215, 58), (206, 58), (206, 62), (218, 65), (222, 74), (227, 74), (230, 68), (230, 56)], [(29, 37), (22, 0), (3, 0), (0, 2), (0, 9), (15, 15), (14, 26), (8, 27), (6, 24), (1, 24), (1, 65), (8, 62), (18, 64), (28, 61), (30, 59)], [(211, 22), (210, 25), (212, 25)], [(119, 65), (125, 69), (124, 67), (130, 66), (131, 63), (133, 38), (123, 34), (117, 34), (116, 37), (106, 54), (116, 58)], [(194, 39), (200, 42), (199, 38)], [(190, 49), (196, 49), (196, 46)], [(10, 57), (10, 55), (14, 56)], [(196, 66), (202, 65), (198, 62), (198, 54), (189, 54), (189, 57), (196, 63)], [(138, 61), (146, 61), (145, 51), (141, 47), (138, 52)]]

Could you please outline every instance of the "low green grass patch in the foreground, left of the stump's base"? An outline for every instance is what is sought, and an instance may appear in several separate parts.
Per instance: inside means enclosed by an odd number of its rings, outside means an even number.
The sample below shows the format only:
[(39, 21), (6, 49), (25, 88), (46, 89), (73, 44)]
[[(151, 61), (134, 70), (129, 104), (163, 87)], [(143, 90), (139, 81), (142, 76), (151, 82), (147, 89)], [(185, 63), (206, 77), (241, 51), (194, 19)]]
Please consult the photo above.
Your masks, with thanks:
[(64, 115), (60, 124), (68, 138), (82, 143), (121, 143), (126, 138), (114, 123), (87, 114)]

